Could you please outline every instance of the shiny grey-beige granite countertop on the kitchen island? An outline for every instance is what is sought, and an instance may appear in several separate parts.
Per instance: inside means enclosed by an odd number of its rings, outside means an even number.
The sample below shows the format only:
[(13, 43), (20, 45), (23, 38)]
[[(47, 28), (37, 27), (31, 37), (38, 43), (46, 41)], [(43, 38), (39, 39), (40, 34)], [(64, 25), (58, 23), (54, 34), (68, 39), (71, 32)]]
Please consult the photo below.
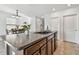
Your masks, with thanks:
[(4, 40), (4, 42), (9, 46), (11, 46), (13, 49), (22, 50), (32, 45), (33, 43), (37, 42), (38, 40), (48, 37), (53, 33), (55, 32), (53, 31), (48, 34), (30, 33), (29, 36), (26, 35), (25, 33), (11, 34), (11, 35), (6, 35), (6, 40)]

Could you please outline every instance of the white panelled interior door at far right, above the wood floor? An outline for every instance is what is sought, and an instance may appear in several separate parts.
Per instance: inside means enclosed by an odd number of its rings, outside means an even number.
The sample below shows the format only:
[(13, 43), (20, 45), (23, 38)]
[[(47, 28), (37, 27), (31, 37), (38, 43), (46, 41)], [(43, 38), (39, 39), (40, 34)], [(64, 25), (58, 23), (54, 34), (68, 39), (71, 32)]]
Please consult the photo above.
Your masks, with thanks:
[(76, 15), (65, 16), (64, 24), (64, 40), (76, 42)]

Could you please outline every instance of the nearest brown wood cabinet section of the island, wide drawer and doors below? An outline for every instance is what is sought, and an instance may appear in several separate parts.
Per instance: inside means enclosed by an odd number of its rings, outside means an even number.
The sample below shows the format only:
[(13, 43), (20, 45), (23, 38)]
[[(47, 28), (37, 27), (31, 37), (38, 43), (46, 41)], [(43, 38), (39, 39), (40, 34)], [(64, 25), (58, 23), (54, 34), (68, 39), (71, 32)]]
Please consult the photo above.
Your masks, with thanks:
[[(40, 42), (37, 42), (36, 44), (33, 44), (31, 47), (25, 49), (25, 55), (36, 55), (36, 54), (45, 54), (46, 53), (46, 39), (41, 40)], [(45, 52), (44, 52), (45, 50)]]

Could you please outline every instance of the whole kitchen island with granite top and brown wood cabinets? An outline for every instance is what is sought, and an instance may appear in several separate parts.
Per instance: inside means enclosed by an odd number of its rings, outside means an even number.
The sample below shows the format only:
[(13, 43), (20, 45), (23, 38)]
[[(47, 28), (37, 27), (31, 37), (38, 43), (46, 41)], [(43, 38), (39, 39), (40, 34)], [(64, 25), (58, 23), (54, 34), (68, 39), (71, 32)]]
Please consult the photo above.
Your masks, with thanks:
[(57, 31), (47, 34), (25, 33), (6, 35), (7, 55), (51, 55), (56, 50)]

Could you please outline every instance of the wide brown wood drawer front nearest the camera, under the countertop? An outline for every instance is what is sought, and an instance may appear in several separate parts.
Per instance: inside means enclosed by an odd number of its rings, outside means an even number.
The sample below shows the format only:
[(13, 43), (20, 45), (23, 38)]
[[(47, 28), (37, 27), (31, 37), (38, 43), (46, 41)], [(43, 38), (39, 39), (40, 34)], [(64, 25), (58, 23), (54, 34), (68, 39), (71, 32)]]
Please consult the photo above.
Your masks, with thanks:
[(39, 48), (46, 43), (46, 40), (43, 39), (39, 41), (38, 43), (32, 45), (31, 47), (25, 49), (25, 53), (27, 55), (32, 55), (35, 51), (39, 50)]

